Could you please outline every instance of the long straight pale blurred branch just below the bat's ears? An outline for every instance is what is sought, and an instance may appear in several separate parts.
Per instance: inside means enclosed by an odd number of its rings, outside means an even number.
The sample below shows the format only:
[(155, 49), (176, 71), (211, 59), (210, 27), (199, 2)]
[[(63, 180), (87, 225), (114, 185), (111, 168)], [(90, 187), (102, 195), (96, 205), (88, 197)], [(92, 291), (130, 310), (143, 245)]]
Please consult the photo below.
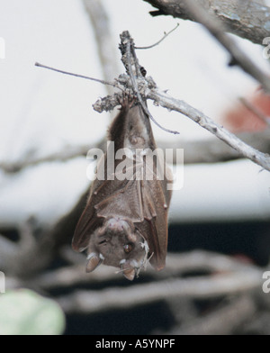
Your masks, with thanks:
[(92, 313), (110, 309), (131, 308), (167, 298), (214, 298), (220, 295), (240, 294), (262, 285), (261, 271), (243, 271), (240, 274), (170, 279), (157, 283), (102, 291), (77, 291), (58, 298), (65, 312)]

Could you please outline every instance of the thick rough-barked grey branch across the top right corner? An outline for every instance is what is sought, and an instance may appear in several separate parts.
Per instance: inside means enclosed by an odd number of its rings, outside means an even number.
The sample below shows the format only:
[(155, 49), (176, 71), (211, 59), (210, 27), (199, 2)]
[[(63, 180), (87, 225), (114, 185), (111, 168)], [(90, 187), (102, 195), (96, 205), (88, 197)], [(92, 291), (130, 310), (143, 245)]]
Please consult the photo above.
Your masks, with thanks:
[[(144, 0), (157, 7), (150, 14), (172, 15), (184, 20), (196, 21), (192, 14), (186, 11), (184, 0)], [(257, 44), (262, 44), (269, 37), (270, 8), (262, 1), (250, 0), (197, 0), (211, 15), (218, 18), (227, 32), (238, 35)]]

